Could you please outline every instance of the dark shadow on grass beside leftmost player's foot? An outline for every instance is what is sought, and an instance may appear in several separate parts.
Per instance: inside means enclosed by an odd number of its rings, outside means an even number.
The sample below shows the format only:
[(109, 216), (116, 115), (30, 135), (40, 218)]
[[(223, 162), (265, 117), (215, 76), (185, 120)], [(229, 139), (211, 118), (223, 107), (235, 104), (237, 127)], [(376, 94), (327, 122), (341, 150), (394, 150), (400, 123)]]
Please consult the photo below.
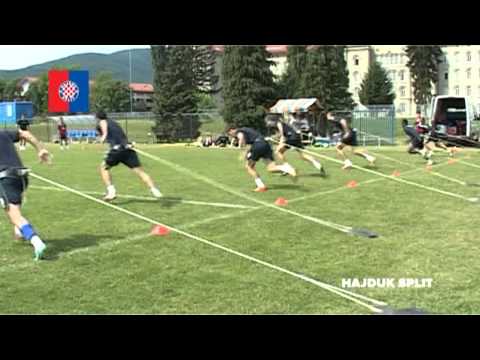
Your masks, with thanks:
[(58, 260), (61, 254), (74, 250), (97, 246), (100, 240), (114, 239), (108, 235), (75, 234), (63, 239), (48, 239), (45, 260)]

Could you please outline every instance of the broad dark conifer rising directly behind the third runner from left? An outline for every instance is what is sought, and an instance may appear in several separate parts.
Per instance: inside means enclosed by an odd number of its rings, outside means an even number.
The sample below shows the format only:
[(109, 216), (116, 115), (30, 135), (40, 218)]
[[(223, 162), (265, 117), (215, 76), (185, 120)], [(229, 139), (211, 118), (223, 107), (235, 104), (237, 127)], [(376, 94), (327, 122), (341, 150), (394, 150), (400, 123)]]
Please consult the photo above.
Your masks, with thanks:
[(222, 95), (227, 124), (265, 129), (265, 110), (276, 93), (269, 56), (263, 45), (225, 46)]

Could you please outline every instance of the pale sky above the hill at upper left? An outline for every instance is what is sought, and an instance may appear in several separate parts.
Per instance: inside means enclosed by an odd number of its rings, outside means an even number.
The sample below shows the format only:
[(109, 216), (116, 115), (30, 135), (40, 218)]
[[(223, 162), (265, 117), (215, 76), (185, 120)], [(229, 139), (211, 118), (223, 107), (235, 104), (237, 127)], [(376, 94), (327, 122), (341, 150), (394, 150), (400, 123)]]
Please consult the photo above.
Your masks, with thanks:
[(0, 45), (0, 70), (16, 70), (86, 52), (111, 54), (150, 45)]

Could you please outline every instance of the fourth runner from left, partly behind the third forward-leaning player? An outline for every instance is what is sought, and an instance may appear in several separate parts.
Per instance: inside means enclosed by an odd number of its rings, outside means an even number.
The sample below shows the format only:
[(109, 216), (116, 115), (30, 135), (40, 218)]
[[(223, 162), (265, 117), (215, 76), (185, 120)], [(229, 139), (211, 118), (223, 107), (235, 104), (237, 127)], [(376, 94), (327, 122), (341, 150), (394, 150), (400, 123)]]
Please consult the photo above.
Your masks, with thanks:
[(274, 131), (280, 136), (280, 143), (275, 149), (275, 155), (282, 162), (286, 162), (285, 153), (287, 150), (293, 147), (300, 159), (312, 164), (315, 169), (320, 171), (321, 176), (326, 176), (325, 169), (323, 168), (322, 164), (312, 156), (307, 155), (302, 151), (304, 146), (302, 143), (301, 130), (295, 129), (293, 126), (284, 123), (279, 116), (267, 116), (266, 123), (267, 127), (273, 128)]

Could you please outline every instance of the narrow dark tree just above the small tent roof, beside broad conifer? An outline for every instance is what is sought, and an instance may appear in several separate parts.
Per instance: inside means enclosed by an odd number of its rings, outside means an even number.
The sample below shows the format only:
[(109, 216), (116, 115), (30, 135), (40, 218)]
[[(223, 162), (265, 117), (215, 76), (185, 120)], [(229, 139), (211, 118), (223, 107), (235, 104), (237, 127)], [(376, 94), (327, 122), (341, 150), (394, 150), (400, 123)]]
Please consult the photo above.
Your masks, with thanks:
[(280, 78), (279, 93), (282, 98), (299, 98), (301, 79), (307, 63), (307, 46), (288, 45), (287, 68)]

